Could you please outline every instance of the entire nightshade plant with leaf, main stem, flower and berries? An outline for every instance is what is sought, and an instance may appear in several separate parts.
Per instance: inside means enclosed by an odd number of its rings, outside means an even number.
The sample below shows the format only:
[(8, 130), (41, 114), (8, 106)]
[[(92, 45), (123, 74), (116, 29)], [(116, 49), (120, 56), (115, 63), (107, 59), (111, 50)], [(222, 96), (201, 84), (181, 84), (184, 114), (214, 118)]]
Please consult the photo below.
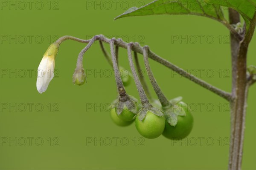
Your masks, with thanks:
[[(193, 6), (189, 5), (191, 3), (193, 3)], [(228, 9), (229, 22), (225, 19), (223, 14), (224, 8)], [(192, 129), (193, 118), (190, 115), (189, 110), (184, 106), (184, 103), (181, 102), (181, 97), (168, 100), (163, 94), (149, 66), (148, 58), (150, 58), (230, 102), (231, 132), (228, 168), (230, 170), (241, 169), (247, 93), (249, 87), (256, 82), (256, 66), (247, 67), (246, 63), (248, 46), (256, 26), (256, 2), (253, 0), (154, 0), (140, 8), (133, 7), (129, 9), (127, 12), (116, 17), (115, 20), (128, 16), (158, 14), (193, 14), (209, 17), (222, 23), (230, 30), (232, 92), (225, 92), (190, 75), (185, 70), (151, 52), (148, 46), (142, 47), (139, 43), (132, 42), (125, 43), (122, 39), (108, 39), (103, 35), (95, 35), (90, 40), (64, 36), (49, 46), (38, 67), (38, 75), (41, 75), (38, 76), (36, 84), (38, 92), (44, 92), (47, 89), (49, 82), (52, 80), (55, 57), (60, 44), (65, 40), (88, 43), (79, 53), (76, 69), (73, 74), (74, 84), (84, 84), (84, 82), (86, 82), (86, 75), (82, 64), (83, 55), (96, 40), (99, 40), (100, 48), (102, 49), (105, 58), (111, 66), (113, 66), (115, 72), (118, 98), (115, 101), (116, 105), (111, 110), (111, 116), (113, 115), (112, 119), (120, 126), (127, 126), (136, 119), (135, 124), (137, 130), (146, 138), (156, 138), (161, 133), (167, 138), (172, 138), (172, 136), (175, 135), (184, 138)], [(240, 15), (244, 19), (243, 26), (240, 23)], [(111, 57), (108, 52), (106, 52), (103, 42), (110, 44)], [(124, 79), (120, 75), (120, 70), (123, 68), (118, 65), (119, 47), (125, 48), (128, 51), (129, 64), (142, 103), (142, 107), (139, 110), (137, 109), (137, 100), (128, 95), (125, 91), (125, 86), (129, 84), (131, 78)], [(156, 100), (151, 98), (145, 80), (142, 77), (138, 77), (133, 63), (132, 51), (134, 52), (135, 65), (139, 75), (141, 72), (137, 53), (143, 55), (148, 77), (161, 106), (157, 104)], [(180, 125), (182, 128), (180, 129), (181, 131), (177, 130), (179, 122), (185, 122)], [(187, 130), (182, 132), (184, 128)]]

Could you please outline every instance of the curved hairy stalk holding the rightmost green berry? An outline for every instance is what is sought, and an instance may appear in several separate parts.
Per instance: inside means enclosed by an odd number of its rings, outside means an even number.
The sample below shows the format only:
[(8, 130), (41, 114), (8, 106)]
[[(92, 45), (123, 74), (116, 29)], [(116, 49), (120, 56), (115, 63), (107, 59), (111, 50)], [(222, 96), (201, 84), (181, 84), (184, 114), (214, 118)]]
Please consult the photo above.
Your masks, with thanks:
[(157, 97), (161, 103), (161, 105), (163, 107), (168, 107), (170, 105), (170, 102), (168, 101), (168, 99), (166, 98), (166, 96), (163, 94), (162, 90), (160, 89), (160, 87), (157, 84), (156, 79), (154, 78), (153, 72), (150, 68), (149, 62), (148, 62), (148, 46), (144, 46), (143, 47), (143, 58), (144, 58), (144, 63), (145, 63), (145, 67), (148, 73), (148, 77), (149, 80), (154, 88), (154, 91), (157, 94)]

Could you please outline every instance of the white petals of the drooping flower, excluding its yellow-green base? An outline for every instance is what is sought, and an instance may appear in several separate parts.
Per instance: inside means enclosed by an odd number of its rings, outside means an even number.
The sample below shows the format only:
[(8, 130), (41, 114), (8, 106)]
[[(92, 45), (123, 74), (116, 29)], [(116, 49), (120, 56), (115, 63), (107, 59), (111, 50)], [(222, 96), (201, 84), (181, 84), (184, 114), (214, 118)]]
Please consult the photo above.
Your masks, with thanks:
[(44, 56), (38, 66), (36, 87), (39, 93), (45, 92), (54, 77), (55, 60), (53, 57)]

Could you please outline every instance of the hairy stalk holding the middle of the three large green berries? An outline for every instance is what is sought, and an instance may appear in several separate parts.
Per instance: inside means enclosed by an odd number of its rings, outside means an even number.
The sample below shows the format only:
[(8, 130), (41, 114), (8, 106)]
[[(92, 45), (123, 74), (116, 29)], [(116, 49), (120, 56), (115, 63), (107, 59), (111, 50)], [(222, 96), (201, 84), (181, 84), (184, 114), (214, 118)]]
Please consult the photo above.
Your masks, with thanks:
[(134, 63), (132, 61), (131, 46), (133, 46), (132, 43), (129, 43), (128, 46), (127, 46), (129, 64), (130, 64), (130, 67), (131, 67), (131, 72), (134, 76), (134, 81), (135, 81), (137, 90), (138, 90), (139, 95), (140, 95), (141, 104), (144, 106), (145, 104), (149, 104), (149, 101), (148, 101), (148, 98), (147, 98), (147, 96), (145, 94), (145, 91), (142, 87), (142, 84), (140, 83), (139, 77), (138, 77), (138, 75), (135, 71), (135, 66), (134, 66)]

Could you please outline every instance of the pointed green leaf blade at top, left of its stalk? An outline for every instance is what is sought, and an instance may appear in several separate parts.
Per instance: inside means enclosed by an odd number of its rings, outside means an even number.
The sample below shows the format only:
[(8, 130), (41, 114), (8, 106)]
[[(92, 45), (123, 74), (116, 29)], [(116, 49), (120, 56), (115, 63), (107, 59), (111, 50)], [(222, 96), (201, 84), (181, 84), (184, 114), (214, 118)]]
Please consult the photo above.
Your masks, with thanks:
[(204, 0), (154, 0), (141, 7), (131, 8), (115, 18), (128, 16), (159, 15), (159, 14), (193, 14), (224, 20), (221, 6), (216, 3), (206, 3)]

